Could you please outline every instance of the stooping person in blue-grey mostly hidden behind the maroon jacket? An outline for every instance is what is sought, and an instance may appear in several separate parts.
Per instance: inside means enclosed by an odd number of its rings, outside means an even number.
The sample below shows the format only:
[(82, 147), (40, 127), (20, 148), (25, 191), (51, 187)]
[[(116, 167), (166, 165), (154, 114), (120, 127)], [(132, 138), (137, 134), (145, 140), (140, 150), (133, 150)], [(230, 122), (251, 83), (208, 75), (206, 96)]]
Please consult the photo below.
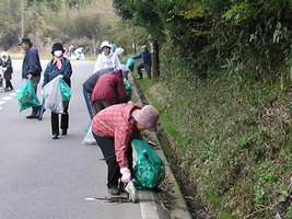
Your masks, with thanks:
[(105, 68), (105, 69), (98, 70), (95, 73), (93, 73), (90, 78), (87, 78), (87, 80), (84, 81), (84, 83), (82, 84), (83, 95), (84, 95), (84, 100), (85, 100), (86, 107), (87, 107), (91, 119), (93, 118), (93, 115), (92, 115), (93, 106), (92, 106), (92, 102), (91, 102), (92, 91), (93, 91), (98, 78), (105, 73), (113, 71), (113, 70), (114, 70), (114, 68)]

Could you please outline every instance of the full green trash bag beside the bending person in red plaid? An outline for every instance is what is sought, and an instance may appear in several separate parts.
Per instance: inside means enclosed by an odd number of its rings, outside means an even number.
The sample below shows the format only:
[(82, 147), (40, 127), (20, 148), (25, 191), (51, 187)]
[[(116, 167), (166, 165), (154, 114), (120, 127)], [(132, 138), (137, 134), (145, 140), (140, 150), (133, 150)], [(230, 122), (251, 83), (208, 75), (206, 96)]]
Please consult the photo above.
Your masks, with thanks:
[(135, 139), (132, 146), (137, 152), (133, 164), (133, 185), (137, 188), (154, 188), (165, 177), (165, 166), (162, 159), (148, 147), (144, 140)]

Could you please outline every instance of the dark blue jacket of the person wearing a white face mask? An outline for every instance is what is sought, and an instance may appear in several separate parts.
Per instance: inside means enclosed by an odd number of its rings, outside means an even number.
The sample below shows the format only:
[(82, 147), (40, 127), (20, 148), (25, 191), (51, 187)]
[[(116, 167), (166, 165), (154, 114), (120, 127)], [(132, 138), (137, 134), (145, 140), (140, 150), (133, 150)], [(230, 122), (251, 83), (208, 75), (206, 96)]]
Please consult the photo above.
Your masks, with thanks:
[(52, 64), (54, 59), (50, 60), (47, 65), (47, 68), (44, 72), (44, 81), (42, 88), (44, 88), (48, 82), (55, 79), (57, 76), (61, 74), (66, 83), (71, 87), (71, 76), (72, 76), (72, 66), (71, 62), (67, 58), (62, 58), (62, 68), (58, 69), (56, 64)]

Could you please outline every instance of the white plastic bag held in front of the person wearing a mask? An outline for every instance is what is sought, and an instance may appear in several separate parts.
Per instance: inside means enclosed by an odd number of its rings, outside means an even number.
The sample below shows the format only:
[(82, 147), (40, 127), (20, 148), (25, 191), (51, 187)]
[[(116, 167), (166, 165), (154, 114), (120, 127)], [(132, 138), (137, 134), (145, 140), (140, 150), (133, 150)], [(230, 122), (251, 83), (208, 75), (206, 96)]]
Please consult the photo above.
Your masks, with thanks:
[(52, 113), (62, 114), (63, 103), (59, 83), (59, 77), (48, 82), (43, 89), (45, 92), (45, 108), (51, 110)]

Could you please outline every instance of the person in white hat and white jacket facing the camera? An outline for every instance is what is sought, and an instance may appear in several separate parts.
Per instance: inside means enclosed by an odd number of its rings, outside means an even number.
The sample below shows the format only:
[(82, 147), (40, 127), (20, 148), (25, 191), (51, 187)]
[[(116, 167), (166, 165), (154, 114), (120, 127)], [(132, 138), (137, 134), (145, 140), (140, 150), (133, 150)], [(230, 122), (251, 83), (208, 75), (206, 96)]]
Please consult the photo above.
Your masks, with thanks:
[(94, 72), (105, 68), (117, 68), (119, 66), (119, 59), (113, 51), (110, 51), (110, 44), (104, 41), (101, 45), (103, 53), (98, 55), (94, 66)]

